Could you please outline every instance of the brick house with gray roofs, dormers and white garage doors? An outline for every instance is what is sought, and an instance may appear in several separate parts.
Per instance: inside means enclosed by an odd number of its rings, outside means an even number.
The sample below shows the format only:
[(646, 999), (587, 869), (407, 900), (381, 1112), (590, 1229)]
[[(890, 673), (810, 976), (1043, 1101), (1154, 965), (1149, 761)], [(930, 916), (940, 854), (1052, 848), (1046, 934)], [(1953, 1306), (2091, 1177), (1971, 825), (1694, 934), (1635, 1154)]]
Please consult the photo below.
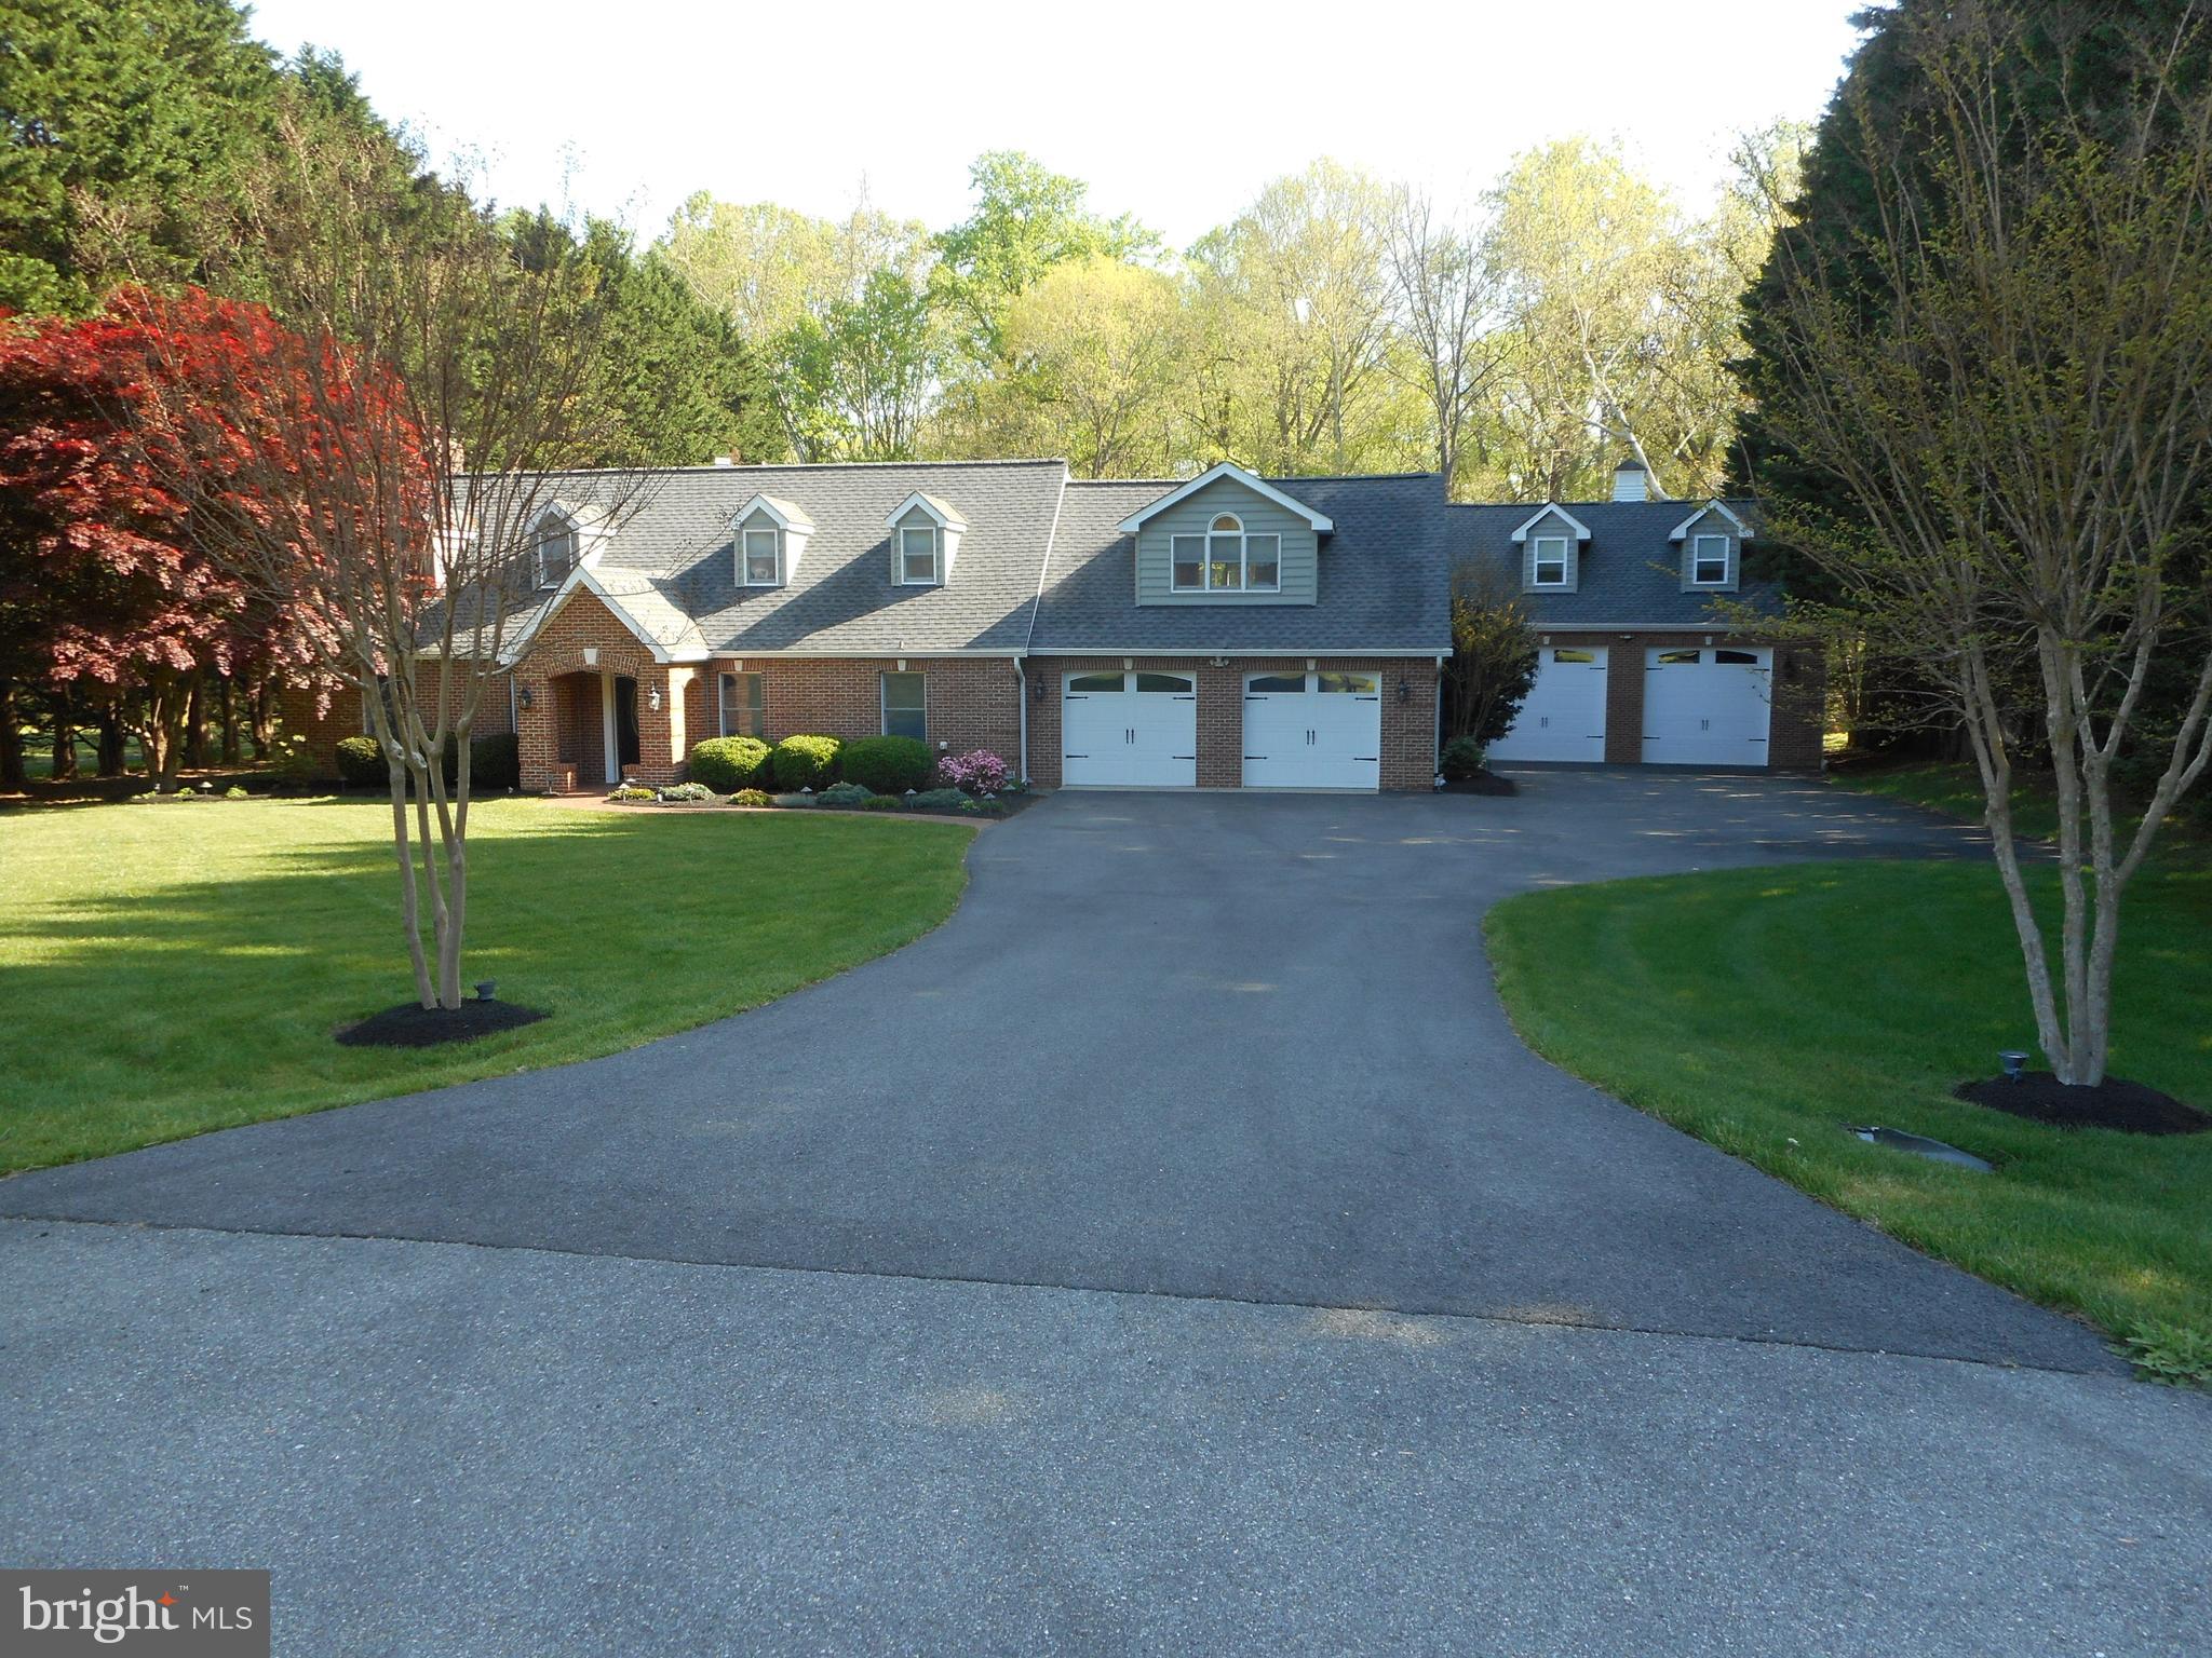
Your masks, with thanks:
[[(1820, 754), (1816, 699), (1772, 694), (1818, 663), (1712, 612), (1763, 597), (1730, 502), (1531, 513), (1451, 506), (1433, 473), (1088, 482), (1060, 460), (555, 484), (480, 725), (511, 721), (524, 789), (675, 783), (701, 738), (799, 732), (989, 749), (1042, 787), (1425, 789), (1467, 559), (1515, 573), (1544, 630), (1500, 758)], [(334, 707), (314, 736), (352, 730)]]

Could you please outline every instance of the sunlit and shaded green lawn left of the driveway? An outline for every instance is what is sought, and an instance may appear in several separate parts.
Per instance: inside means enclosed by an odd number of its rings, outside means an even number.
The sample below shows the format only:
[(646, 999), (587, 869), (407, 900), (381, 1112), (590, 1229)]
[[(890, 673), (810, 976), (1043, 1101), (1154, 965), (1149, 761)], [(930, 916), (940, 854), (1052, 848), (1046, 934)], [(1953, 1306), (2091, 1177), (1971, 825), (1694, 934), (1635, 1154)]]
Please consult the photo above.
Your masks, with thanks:
[(471, 814), (465, 975), (553, 1017), (341, 1048), (411, 997), (389, 809), (199, 800), (0, 814), (0, 1172), (630, 1048), (907, 944), (973, 829), (865, 816)]

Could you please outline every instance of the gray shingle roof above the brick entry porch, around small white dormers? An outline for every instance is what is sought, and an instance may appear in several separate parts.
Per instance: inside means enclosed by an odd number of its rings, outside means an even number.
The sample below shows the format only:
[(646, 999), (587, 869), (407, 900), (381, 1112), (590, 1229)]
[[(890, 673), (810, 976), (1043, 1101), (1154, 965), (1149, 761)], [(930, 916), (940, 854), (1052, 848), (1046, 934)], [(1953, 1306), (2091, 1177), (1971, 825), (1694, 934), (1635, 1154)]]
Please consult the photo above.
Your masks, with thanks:
[[(562, 482), (564, 500), (588, 500), (595, 478), (597, 489), (617, 489), (608, 475), (575, 473)], [(650, 473), (591, 573), (670, 650), (1015, 652), (1064, 480), (1057, 460)], [(951, 579), (933, 588), (891, 581), (885, 520), (916, 491), (967, 520)], [(754, 495), (814, 522), (781, 588), (737, 581), (732, 520)]]

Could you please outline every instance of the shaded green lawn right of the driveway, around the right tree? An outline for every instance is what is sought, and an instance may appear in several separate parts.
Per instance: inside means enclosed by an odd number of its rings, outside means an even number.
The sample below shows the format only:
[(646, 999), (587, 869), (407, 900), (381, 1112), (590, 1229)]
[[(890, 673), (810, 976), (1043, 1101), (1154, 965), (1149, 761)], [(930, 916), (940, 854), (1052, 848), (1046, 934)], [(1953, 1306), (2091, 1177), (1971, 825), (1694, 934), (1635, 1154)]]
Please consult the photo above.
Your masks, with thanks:
[[(2046, 902), (2055, 884), (2039, 875)], [(1949, 1096), (2033, 1048), (1986, 862), (1856, 862), (1573, 886), (1491, 911), (1522, 1037), (1816, 1198), (2212, 1366), (2212, 1134), (2066, 1132)], [(2121, 933), (2112, 1074), (2212, 1108), (2212, 869), (2154, 867)], [(1997, 1163), (1865, 1145), (1887, 1123)]]

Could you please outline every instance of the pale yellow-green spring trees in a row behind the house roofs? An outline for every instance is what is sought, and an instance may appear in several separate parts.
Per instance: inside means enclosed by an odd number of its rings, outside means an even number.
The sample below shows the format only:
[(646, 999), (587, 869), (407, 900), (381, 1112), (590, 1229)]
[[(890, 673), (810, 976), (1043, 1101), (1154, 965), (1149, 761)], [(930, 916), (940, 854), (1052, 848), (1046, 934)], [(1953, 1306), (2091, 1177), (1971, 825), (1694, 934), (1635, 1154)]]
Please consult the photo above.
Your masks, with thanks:
[(1736, 305), (1796, 144), (1747, 139), (1703, 214), (1588, 139), (1453, 206), (1323, 159), (1181, 252), (991, 153), (947, 230), (697, 195), (657, 252), (761, 349), (801, 460), (1062, 453), (1126, 478), (1232, 455), (1542, 500), (1632, 451), (1690, 495), (1730, 471)]

